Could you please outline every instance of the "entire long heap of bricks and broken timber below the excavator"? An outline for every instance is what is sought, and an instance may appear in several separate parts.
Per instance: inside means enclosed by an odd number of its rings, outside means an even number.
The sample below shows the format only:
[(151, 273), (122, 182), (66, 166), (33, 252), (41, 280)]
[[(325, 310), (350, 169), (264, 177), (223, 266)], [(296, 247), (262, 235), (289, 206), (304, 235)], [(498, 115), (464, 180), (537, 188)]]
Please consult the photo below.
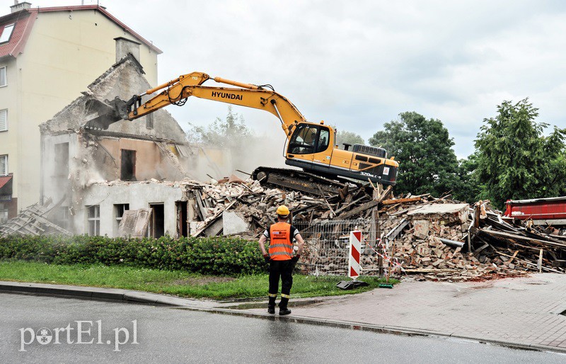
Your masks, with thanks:
[[(361, 263), (366, 274), (386, 273), (389, 267), (417, 280), (463, 281), (565, 272), (566, 237), (536, 232), (518, 220), (505, 222), (489, 202), (470, 207), (449, 196), (395, 198), (391, 188), (372, 193), (360, 186), (313, 196), (236, 176), (218, 182), (187, 185), (202, 217), (191, 234), (255, 239), (285, 204), (306, 239), (303, 268), (308, 273), (344, 273), (348, 232), (354, 228), (364, 232)], [(237, 229), (226, 223), (234, 218), (240, 222)]]

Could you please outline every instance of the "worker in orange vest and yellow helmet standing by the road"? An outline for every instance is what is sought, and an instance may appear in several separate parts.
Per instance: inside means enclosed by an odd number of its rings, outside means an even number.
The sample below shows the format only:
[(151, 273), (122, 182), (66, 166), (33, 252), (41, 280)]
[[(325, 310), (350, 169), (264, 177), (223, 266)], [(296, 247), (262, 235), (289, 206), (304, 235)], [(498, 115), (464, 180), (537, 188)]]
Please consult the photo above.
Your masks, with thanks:
[[(279, 315), (290, 314), (287, 308), (291, 286), (293, 285), (293, 268), (301, 254), (303, 254), (304, 241), (299, 230), (287, 223), (289, 208), (285, 205), (277, 207), (277, 222), (265, 229), (260, 237), (260, 249), (263, 258), (270, 263), (270, 290), (267, 313), (275, 314), (275, 299), (279, 290), (281, 278), (281, 301), (279, 302)], [(265, 250), (265, 241), (270, 239), (269, 253)], [(293, 256), (293, 239), (296, 239), (299, 250)]]

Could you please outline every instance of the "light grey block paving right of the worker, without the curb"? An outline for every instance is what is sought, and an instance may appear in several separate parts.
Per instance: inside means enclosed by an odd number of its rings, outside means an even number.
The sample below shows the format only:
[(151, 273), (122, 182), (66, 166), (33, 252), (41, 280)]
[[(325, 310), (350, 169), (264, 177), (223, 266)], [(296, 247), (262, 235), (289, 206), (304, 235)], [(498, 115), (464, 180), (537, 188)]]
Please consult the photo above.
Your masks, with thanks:
[(476, 283), (407, 282), (297, 307), (293, 314), (566, 351), (565, 311), (566, 275), (543, 273)]

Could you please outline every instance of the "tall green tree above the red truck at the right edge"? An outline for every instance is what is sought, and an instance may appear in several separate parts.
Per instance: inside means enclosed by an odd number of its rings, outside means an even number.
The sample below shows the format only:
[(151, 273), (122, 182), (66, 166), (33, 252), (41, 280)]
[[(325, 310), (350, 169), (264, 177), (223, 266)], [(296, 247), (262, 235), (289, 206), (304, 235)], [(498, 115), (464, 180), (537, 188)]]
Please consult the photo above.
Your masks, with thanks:
[(495, 118), (484, 119), (475, 147), (478, 178), (497, 207), (507, 199), (543, 198), (563, 193), (566, 181), (566, 130), (536, 123), (538, 108), (528, 98), (497, 106)]

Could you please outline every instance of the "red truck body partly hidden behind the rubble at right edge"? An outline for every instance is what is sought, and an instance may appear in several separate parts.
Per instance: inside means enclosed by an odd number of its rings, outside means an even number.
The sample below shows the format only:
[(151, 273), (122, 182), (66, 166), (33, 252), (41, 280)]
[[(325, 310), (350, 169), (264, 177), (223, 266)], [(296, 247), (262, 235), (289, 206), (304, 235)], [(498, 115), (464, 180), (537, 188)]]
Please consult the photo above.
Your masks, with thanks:
[(566, 196), (507, 200), (504, 216), (519, 220), (533, 220), (536, 225), (550, 225), (566, 229)]

